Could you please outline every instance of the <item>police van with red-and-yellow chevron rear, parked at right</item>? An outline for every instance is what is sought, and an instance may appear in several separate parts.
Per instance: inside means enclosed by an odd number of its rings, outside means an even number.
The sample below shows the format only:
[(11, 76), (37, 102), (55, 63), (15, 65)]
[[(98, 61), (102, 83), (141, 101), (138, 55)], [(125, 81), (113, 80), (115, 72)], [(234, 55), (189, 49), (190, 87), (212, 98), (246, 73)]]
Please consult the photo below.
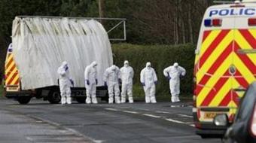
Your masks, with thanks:
[(206, 10), (194, 65), (194, 123), (202, 138), (221, 136), (217, 114), (230, 123), (239, 99), (256, 77), (256, 1), (236, 1)]

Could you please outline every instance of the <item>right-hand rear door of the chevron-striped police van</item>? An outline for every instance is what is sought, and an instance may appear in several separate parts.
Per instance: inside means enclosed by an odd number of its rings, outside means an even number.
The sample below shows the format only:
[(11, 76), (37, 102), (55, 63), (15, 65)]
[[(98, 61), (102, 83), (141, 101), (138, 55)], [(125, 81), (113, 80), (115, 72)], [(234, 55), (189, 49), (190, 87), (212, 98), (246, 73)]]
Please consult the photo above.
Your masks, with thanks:
[(236, 113), (239, 99), (256, 76), (256, 4), (241, 3), (236, 6), (234, 27), (232, 84), (232, 112)]

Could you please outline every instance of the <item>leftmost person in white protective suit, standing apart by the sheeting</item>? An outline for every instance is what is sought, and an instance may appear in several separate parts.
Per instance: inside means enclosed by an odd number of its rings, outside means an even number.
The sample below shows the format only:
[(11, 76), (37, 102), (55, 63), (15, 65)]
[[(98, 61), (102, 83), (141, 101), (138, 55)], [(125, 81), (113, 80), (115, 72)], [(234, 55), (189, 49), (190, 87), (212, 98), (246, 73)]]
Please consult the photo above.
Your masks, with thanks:
[(59, 90), (61, 96), (61, 104), (64, 105), (66, 103), (71, 104), (71, 89), (70, 87), (74, 87), (74, 81), (69, 77), (69, 65), (68, 62), (62, 62), (62, 65), (58, 68), (59, 74)]

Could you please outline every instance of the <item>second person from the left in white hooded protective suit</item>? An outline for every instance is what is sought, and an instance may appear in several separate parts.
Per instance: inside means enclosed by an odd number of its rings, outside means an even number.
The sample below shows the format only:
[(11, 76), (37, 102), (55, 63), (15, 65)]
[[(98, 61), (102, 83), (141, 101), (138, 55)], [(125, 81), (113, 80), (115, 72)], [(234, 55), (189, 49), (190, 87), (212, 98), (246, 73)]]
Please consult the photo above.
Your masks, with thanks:
[(87, 89), (87, 99), (86, 103), (97, 104), (96, 98), (96, 85), (98, 84), (97, 80), (97, 62), (92, 62), (85, 68), (84, 71), (84, 80), (85, 80), (85, 88)]

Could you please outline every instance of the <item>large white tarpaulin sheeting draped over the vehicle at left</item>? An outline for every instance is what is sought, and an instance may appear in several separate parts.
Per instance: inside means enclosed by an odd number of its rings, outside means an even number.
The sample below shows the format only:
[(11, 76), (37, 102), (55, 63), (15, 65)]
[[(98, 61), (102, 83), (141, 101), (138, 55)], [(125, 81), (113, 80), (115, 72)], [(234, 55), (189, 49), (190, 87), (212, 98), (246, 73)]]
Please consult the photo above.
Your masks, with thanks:
[(22, 90), (58, 85), (56, 71), (63, 61), (69, 63), (75, 87), (84, 87), (85, 67), (98, 62), (102, 86), (102, 75), (113, 64), (108, 34), (96, 20), (16, 17), (12, 42)]

